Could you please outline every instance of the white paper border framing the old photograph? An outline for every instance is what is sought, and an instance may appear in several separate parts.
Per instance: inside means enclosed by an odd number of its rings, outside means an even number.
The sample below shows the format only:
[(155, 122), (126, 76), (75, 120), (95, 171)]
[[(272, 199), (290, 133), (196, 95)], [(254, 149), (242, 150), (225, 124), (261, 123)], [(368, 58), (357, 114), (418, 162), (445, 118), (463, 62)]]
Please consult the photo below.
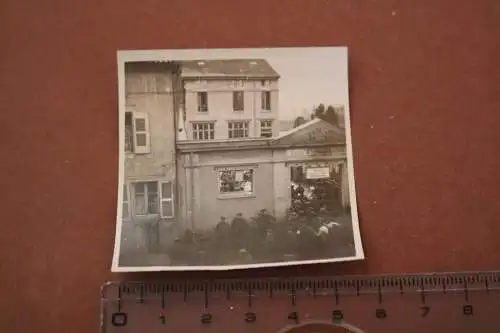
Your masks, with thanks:
[[(122, 130), (125, 126), (125, 63), (133, 61), (146, 62), (164, 62), (175, 60), (198, 60), (198, 59), (220, 59), (233, 58), (243, 59), (252, 56), (261, 56), (266, 51), (273, 50), (280, 52), (293, 52), (303, 50), (331, 49), (335, 52), (342, 51), (345, 54), (346, 77), (343, 78), (346, 82), (347, 103), (345, 105), (345, 131), (346, 131), (346, 153), (347, 153), (347, 174), (349, 184), (349, 199), (351, 206), (352, 217), (352, 232), (354, 238), (355, 256), (340, 257), (331, 259), (315, 259), (315, 260), (300, 260), (276, 263), (261, 263), (261, 264), (246, 264), (246, 265), (219, 265), (219, 266), (120, 266), (120, 245), (122, 240), (122, 196), (123, 196), (123, 181), (125, 173), (125, 133)], [(244, 52), (242, 52), (244, 51)], [(358, 205), (356, 196), (354, 163), (353, 163), (353, 148), (352, 148), (352, 133), (351, 133), (351, 112), (350, 112), (350, 96), (349, 96), (349, 70), (348, 70), (348, 48), (345, 46), (331, 47), (276, 47), (276, 48), (226, 48), (226, 49), (159, 49), (159, 50), (118, 50), (117, 51), (117, 71), (118, 71), (118, 191), (117, 191), (117, 214), (115, 241), (113, 249), (113, 258), (111, 272), (158, 272), (158, 271), (228, 271), (237, 269), (249, 268), (271, 268), (271, 267), (286, 267), (286, 266), (303, 266), (311, 264), (325, 264), (335, 262), (357, 261), (364, 260), (365, 253), (363, 249), (361, 231), (359, 227)]]

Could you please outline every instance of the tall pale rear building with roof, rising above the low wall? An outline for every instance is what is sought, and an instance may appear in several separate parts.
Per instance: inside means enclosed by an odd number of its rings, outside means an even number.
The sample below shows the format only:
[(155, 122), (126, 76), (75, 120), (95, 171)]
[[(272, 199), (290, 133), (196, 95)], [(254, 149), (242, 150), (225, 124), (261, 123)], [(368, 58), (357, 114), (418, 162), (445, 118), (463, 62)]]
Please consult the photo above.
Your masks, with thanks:
[(179, 140), (269, 138), (279, 133), (279, 75), (263, 59), (181, 63)]

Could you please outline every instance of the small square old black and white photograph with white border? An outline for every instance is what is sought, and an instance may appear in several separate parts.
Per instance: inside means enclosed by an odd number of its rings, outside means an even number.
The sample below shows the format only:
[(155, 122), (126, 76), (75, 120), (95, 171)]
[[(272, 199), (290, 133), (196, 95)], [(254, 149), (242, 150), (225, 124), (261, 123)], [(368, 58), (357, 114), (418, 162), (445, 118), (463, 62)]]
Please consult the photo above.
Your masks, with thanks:
[(364, 259), (346, 47), (117, 60), (113, 271)]

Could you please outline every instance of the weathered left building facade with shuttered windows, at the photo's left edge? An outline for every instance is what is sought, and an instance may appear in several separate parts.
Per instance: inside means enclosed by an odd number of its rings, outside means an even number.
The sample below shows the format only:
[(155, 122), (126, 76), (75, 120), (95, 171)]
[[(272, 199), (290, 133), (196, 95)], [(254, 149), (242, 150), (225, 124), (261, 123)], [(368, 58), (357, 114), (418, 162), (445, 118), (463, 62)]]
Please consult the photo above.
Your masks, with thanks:
[(122, 254), (148, 252), (175, 237), (178, 78), (172, 63), (125, 66)]

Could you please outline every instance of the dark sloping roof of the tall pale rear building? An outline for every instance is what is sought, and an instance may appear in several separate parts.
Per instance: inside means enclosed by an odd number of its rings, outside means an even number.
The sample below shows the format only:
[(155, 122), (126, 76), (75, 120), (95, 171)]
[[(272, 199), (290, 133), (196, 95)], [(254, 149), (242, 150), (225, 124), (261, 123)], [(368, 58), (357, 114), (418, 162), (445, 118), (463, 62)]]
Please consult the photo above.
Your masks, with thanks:
[(264, 59), (189, 60), (180, 62), (183, 78), (260, 78), (279, 79)]

